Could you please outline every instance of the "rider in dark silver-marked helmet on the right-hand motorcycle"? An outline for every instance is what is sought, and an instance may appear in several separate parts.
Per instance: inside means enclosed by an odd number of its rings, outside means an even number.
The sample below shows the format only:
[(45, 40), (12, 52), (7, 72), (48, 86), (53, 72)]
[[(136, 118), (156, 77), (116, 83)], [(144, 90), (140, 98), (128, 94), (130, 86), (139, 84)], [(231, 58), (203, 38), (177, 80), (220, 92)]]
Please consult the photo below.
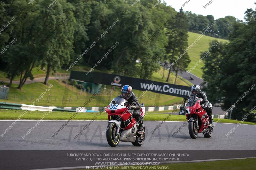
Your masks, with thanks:
[(212, 108), (210, 107), (210, 102), (208, 101), (206, 94), (201, 91), (201, 88), (199, 85), (193, 85), (191, 87), (191, 94), (189, 95), (189, 98), (191, 96), (196, 96), (203, 99), (203, 101), (200, 103), (201, 107), (206, 110), (206, 113), (209, 116), (209, 122), (210, 123), (214, 122), (212, 119)]

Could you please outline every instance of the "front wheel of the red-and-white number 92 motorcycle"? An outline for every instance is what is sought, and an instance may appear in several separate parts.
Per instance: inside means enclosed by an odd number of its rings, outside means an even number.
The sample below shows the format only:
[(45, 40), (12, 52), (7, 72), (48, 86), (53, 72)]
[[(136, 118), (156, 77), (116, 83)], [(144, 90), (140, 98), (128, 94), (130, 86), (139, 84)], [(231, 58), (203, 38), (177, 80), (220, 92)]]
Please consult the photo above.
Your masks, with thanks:
[(109, 146), (116, 147), (120, 141), (120, 133), (116, 135), (117, 126), (113, 122), (109, 122), (107, 126), (106, 138)]

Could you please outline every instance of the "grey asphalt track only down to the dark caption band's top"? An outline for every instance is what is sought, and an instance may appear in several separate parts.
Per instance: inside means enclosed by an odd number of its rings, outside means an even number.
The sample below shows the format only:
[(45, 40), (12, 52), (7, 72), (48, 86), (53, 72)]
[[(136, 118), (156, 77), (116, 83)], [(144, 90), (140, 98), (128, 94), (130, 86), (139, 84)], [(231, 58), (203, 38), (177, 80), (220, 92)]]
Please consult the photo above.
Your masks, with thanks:
[[(10, 126), (13, 121), (0, 121), (0, 133)], [(22, 136), (35, 125), (37, 121), (18, 121), (3, 137), (0, 136), (0, 150), (133, 150), (130, 142), (120, 142), (111, 148), (102, 132), (106, 129), (108, 121), (92, 122), (79, 137), (73, 137), (89, 123), (89, 121), (70, 121), (57, 136), (52, 135), (66, 121), (43, 121), (31, 134)], [(205, 138), (198, 134), (193, 140), (188, 133), (188, 124), (179, 133), (172, 136), (184, 122), (164, 122), (162, 127), (151, 131), (161, 121), (144, 121), (146, 127), (145, 143), (140, 150), (252, 150), (256, 144), (256, 126), (217, 123), (213, 136)], [(236, 128), (228, 137), (226, 134)], [(138, 148), (137, 148), (138, 149)]]

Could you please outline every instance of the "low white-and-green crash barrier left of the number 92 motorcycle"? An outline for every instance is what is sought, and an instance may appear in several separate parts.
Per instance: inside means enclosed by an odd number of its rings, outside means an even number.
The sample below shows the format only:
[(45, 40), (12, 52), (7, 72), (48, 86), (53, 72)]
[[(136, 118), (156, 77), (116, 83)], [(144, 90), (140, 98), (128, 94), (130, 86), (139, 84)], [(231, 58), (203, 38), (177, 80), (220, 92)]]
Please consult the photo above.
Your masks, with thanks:
[[(25, 105), (25, 104), (17, 104), (17, 103), (6, 103), (6, 102), (0, 102), (0, 109), (14, 109), (14, 110), (30, 110), (30, 111), (65, 111), (65, 112), (76, 112), (76, 109), (72, 108), (55, 108), (55, 107), (45, 107), (45, 106), (34, 106), (34, 105)], [(83, 112), (95, 112), (92, 110), (83, 110)]]

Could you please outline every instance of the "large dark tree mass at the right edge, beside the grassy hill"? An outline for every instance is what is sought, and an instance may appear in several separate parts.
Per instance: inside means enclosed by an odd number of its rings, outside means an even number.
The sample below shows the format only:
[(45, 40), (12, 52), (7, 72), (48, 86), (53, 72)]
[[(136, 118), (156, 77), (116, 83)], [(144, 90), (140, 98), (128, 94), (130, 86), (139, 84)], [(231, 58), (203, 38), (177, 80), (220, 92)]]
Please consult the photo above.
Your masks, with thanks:
[(213, 103), (223, 103), (229, 113), (233, 109), (233, 119), (252, 120), (255, 114), (250, 113), (256, 109), (256, 11), (248, 9), (245, 14), (247, 23), (232, 27), (230, 43), (220, 43), (205, 58), (203, 78)]

